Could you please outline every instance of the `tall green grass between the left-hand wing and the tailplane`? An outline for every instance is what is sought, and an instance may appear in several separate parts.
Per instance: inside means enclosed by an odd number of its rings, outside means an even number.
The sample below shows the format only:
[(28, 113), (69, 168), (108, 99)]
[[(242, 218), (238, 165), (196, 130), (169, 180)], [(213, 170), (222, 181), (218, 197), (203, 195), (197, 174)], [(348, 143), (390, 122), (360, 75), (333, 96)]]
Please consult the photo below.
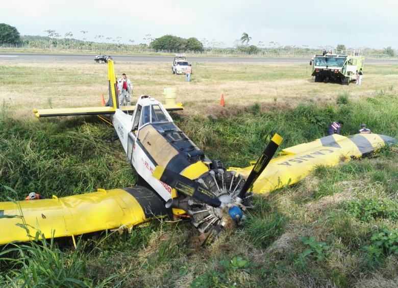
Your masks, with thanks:
[[(49, 198), (135, 184), (130, 165), (109, 126), (94, 119), (20, 123), (0, 119), (0, 180), (18, 191)], [(6, 191), (0, 194), (5, 200)]]

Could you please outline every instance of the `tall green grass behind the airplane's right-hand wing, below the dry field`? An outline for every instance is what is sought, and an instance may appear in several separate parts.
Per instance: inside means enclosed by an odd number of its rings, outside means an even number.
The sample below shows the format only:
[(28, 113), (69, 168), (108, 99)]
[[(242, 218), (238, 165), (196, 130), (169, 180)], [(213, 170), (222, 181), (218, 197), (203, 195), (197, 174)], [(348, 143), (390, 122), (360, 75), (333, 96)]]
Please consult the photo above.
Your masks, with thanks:
[(342, 120), (342, 135), (358, 133), (366, 123), (373, 133), (398, 138), (398, 97), (377, 95), (373, 100), (350, 100), (347, 93), (326, 107), (300, 104), (293, 109), (275, 109), (261, 113), (257, 104), (228, 118), (189, 116), (176, 121), (211, 158), (227, 166), (244, 166), (255, 161), (265, 145), (278, 133), (284, 140), (281, 148), (313, 141), (327, 135), (333, 121)]

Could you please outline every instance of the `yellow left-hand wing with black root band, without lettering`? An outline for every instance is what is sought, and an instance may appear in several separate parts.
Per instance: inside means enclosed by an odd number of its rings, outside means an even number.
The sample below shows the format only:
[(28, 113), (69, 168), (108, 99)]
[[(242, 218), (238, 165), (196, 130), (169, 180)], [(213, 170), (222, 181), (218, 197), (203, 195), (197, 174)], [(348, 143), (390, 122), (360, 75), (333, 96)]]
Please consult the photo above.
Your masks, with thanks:
[(130, 228), (163, 215), (166, 210), (159, 197), (138, 186), (63, 198), (0, 202), (0, 244), (32, 240), (39, 230), (45, 238), (53, 233), (57, 238)]

